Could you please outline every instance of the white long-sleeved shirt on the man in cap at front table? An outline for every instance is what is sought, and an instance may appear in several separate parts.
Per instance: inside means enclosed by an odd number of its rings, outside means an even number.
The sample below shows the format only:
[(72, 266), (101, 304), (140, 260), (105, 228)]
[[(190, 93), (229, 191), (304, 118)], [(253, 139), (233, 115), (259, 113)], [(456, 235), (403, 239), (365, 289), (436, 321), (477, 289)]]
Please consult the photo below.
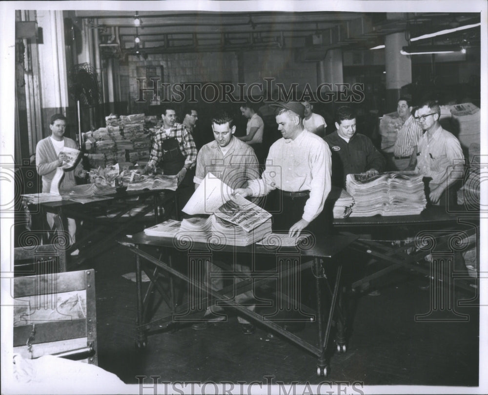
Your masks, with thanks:
[(330, 191), (330, 150), (306, 129), (295, 140), (281, 138), (270, 148), (262, 178), (249, 183), (253, 196), (273, 189), (310, 191), (302, 218), (311, 222), (321, 213)]

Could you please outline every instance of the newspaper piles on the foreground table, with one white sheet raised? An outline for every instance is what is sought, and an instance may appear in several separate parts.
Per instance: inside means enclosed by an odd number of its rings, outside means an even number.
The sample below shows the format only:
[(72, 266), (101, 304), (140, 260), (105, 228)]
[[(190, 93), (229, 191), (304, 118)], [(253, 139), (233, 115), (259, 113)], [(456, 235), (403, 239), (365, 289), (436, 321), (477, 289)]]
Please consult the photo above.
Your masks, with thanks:
[(234, 194), (212, 173), (207, 173), (183, 211), (193, 217), (183, 219), (179, 229), (175, 221), (168, 220), (144, 233), (232, 246), (247, 246), (271, 233), (271, 214)]

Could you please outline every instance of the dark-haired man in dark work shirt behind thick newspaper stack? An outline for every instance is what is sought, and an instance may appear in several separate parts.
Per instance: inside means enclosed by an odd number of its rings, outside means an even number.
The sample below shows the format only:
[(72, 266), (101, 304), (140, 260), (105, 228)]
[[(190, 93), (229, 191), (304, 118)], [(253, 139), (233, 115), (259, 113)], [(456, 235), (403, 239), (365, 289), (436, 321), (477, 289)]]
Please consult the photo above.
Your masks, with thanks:
[(376, 175), (385, 169), (385, 158), (369, 137), (356, 133), (356, 114), (341, 106), (335, 115), (336, 131), (324, 140), (332, 153), (332, 185), (344, 188), (347, 174)]

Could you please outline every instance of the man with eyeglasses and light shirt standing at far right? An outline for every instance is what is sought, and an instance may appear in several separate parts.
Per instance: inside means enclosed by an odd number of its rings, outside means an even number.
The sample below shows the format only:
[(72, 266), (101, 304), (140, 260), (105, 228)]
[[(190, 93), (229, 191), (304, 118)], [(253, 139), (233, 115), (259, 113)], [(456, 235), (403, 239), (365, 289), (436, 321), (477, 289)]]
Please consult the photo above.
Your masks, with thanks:
[(430, 203), (455, 205), (454, 183), (460, 177), (451, 177), (451, 174), (463, 170), (464, 155), (459, 140), (442, 128), (440, 117), (441, 108), (436, 101), (422, 103), (415, 113), (415, 119), (425, 131), (418, 142), (416, 170), (425, 175)]

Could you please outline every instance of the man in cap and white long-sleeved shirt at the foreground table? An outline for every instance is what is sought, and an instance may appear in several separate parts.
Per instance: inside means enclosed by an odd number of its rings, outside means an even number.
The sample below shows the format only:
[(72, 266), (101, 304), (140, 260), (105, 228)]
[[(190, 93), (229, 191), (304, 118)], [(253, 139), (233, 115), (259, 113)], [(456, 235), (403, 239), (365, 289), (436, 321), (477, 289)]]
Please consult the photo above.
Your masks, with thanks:
[[(273, 231), (298, 236), (317, 218), (330, 191), (330, 150), (303, 126), (305, 106), (298, 102), (270, 104), (283, 138), (270, 148), (261, 179), (236, 189), (245, 196), (274, 191)], [(310, 227), (308, 228), (309, 230)]]

